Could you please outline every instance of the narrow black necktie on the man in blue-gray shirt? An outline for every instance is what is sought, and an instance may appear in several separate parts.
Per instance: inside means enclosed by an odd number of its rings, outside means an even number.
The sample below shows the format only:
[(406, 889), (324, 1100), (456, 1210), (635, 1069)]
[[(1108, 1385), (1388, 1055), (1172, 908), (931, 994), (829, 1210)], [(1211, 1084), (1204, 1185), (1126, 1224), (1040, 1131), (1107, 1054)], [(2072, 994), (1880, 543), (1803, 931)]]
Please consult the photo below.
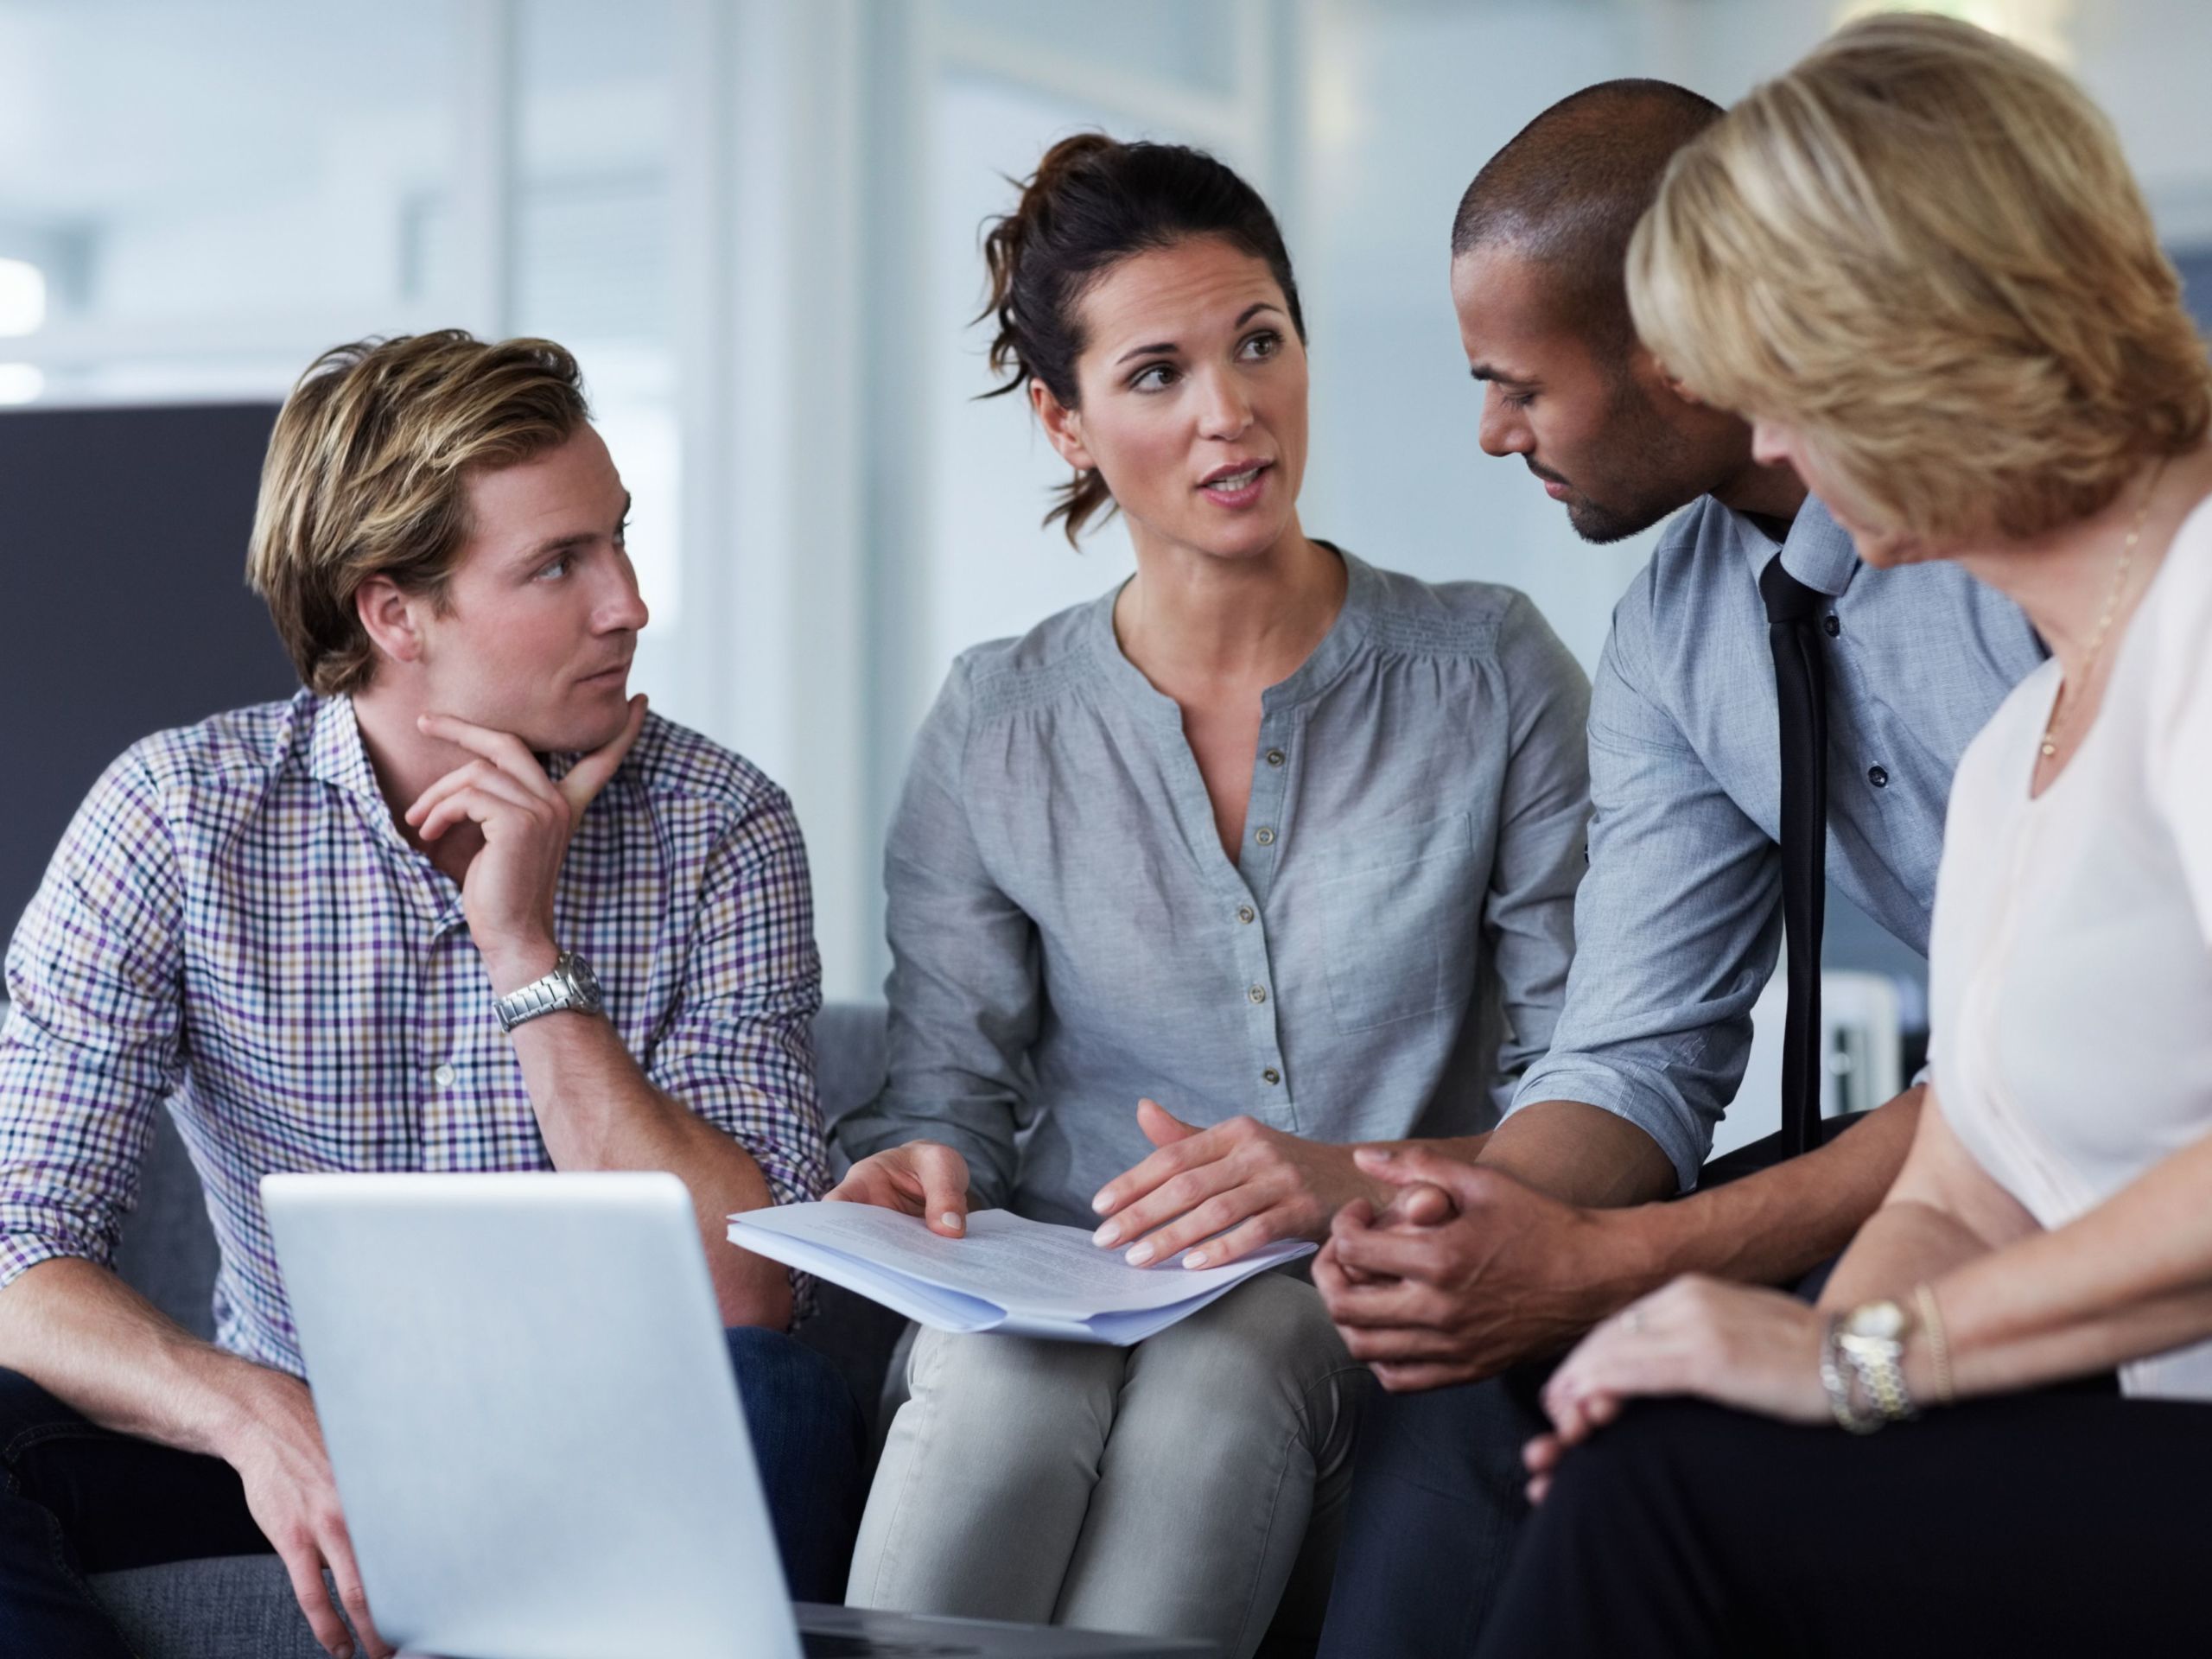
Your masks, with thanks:
[(1820, 1144), (1820, 920), (1827, 907), (1827, 666), (1818, 613), (1827, 595), (1783, 568), (1759, 573), (1774, 648), (1783, 732), (1783, 931), (1790, 1018), (1783, 1024), (1783, 1155)]

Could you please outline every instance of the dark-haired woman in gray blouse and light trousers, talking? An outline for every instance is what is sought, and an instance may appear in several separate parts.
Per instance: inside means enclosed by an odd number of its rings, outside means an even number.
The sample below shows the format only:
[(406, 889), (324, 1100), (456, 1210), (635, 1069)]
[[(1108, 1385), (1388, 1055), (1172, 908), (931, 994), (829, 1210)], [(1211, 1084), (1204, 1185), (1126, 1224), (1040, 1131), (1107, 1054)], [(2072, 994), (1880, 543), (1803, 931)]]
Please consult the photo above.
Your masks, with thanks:
[[(1475, 1137), (1573, 951), (1588, 688), (1528, 602), (1298, 526), (1307, 367), (1265, 204), (1057, 144), (987, 239), (1002, 389), (1137, 575), (953, 666), (885, 858), (891, 1079), (836, 1199), (1201, 1265)], [(1208, 1637), (1327, 1595), (1363, 1371), (1263, 1274), (1130, 1349), (922, 1332), (849, 1599)], [(1305, 1551), (1301, 1562), (1301, 1551)]]

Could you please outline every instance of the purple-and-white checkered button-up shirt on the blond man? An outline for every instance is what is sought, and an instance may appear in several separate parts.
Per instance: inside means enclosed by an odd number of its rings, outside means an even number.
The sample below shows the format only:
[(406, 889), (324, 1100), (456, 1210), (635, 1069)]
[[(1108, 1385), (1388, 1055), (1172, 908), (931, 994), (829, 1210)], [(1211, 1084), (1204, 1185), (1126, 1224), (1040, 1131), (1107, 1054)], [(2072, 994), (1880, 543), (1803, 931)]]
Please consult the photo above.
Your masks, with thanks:
[[(648, 717), (553, 914), (646, 1077), (743, 1144), (779, 1203), (821, 1192), (821, 962), (783, 792)], [(7, 991), (0, 1285), (113, 1261), (166, 1104), (221, 1243), (217, 1340), (296, 1376), (263, 1175), (553, 1168), (460, 887), (392, 821), (343, 697), (115, 761), (15, 929)]]

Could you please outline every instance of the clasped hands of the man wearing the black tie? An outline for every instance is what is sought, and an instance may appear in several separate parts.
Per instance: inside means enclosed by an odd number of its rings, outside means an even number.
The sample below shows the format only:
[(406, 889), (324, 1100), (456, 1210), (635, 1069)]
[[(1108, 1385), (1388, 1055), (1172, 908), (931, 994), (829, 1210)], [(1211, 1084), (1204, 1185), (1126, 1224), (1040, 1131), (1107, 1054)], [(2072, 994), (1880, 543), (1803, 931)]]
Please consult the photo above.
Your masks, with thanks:
[(1637, 1210), (1586, 1210), (1429, 1150), (1358, 1155), (1402, 1197), (1338, 1212), (1314, 1285), (1394, 1394), (1480, 1383), (1557, 1354), (1648, 1290)]

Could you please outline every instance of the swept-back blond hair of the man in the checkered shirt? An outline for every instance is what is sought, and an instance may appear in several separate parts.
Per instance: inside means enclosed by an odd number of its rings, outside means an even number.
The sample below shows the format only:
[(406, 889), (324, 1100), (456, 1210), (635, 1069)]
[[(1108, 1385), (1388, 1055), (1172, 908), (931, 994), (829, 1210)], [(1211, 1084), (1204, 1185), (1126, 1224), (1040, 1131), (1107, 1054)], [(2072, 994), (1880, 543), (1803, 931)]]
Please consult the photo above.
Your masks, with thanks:
[(385, 575), (442, 604), (469, 542), (469, 478), (557, 449), (588, 416), (582, 372), (553, 341), (440, 330), (310, 363), (270, 434), (246, 553), (301, 684), (325, 697), (367, 686), (361, 584)]

